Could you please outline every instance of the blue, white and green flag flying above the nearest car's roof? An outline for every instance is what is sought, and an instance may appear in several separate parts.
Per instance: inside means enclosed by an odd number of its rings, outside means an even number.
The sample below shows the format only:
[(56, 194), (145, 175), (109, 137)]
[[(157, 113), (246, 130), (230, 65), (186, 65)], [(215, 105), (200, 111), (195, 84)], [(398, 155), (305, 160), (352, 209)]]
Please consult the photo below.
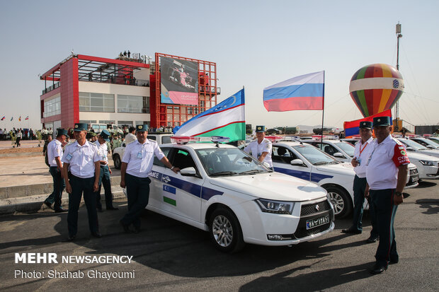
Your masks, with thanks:
[(215, 107), (173, 128), (177, 136), (227, 136), (230, 141), (246, 139), (244, 88)]

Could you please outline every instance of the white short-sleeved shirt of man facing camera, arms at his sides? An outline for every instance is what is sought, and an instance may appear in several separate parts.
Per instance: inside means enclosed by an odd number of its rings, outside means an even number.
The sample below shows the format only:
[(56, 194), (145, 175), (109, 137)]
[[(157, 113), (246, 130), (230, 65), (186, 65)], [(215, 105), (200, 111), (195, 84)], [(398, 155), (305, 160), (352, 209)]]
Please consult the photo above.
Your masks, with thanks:
[(89, 178), (94, 176), (94, 163), (99, 160), (101, 159), (98, 156), (98, 147), (96, 145), (86, 141), (81, 146), (75, 141), (73, 144), (66, 146), (61, 161), (69, 163), (69, 170), (72, 175)]

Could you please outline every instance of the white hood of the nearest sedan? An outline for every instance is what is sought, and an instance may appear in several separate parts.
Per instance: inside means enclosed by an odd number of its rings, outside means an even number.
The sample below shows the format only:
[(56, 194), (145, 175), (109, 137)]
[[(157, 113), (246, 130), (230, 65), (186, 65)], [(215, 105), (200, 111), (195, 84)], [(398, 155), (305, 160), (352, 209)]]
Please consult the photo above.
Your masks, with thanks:
[(326, 197), (326, 191), (314, 183), (282, 173), (212, 177), (210, 183), (249, 196), (278, 201), (305, 202)]

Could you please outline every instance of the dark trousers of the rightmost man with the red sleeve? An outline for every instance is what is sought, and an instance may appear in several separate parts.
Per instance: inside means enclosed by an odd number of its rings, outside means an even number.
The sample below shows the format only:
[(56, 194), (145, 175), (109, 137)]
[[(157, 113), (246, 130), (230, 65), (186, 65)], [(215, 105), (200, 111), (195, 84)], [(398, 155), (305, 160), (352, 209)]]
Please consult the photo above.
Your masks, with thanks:
[(393, 228), (395, 214), (398, 206), (393, 202), (395, 189), (370, 189), (370, 204), (375, 210), (375, 220), (377, 222), (380, 243), (378, 244), (375, 259), (377, 264), (387, 267), (389, 261), (399, 259), (397, 252), (397, 241), (395, 240), (395, 230)]

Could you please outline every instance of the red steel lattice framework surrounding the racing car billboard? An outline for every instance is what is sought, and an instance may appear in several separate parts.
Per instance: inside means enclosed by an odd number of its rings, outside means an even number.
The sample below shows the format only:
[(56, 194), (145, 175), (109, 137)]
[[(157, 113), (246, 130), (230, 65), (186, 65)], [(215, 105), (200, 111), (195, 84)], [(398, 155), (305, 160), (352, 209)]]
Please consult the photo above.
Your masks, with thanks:
[[(169, 57), (196, 62), (198, 64), (198, 105), (164, 104), (160, 100), (160, 57)], [(217, 104), (217, 64), (198, 59), (178, 57), (170, 54), (155, 54), (155, 72), (149, 78), (151, 84), (151, 126), (175, 127), (200, 112)]]

